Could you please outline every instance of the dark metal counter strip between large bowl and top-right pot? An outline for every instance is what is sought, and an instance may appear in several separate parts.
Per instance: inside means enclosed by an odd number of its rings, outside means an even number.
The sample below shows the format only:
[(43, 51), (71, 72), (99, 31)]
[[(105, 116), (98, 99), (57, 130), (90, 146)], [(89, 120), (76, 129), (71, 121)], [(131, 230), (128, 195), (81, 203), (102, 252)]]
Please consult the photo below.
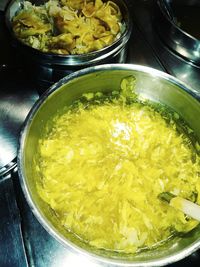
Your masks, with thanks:
[(167, 73), (200, 92), (200, 66), (178, 55), (160, 38), (155, 11), (156, 1), (145, 0), (142, 3), (136, 1), (132, 9), (135, 23), (139, 25), (144, 40), (149, 44), (152, 53), (154, 53)]

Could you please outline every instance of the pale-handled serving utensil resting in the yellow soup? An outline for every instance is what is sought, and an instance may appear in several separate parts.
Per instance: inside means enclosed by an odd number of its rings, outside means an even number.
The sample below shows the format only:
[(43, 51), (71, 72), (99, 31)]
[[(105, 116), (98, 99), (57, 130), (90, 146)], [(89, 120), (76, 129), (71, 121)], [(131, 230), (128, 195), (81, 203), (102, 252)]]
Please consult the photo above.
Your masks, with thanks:
[(163, 192), (158, 195), (158, 198), (167, 202), (171, 207), (178, 209), (190, 216), (191, 218), (200, 221), (200, 206), (179, 196), (175, 196), (170, 192)]

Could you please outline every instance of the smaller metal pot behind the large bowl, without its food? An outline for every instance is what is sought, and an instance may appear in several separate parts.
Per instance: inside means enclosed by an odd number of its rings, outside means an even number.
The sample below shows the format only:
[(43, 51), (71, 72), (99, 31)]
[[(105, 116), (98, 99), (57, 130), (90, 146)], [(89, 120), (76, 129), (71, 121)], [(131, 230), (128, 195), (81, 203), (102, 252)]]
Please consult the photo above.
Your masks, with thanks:
[[(29, 0), (35, 5), (47, 0)], [(19, 41), (12, 30), (12, 18), (23, 7), (24, 0), (12, 0), (5, 12), (6, 25), (10, 32), (12, 43), (20, 52), (26, 63), (31, 64), (31, 75), (40, 82), (54, 83), (76, 70), (106, 63), (124, 63), (127, 55), (127, 42), (132, 31), (132, 20), (126, 0), (112, 0), (122, 13), (125, 30), (113, 44), (82, 55), (57, 55), (44, 53)]]

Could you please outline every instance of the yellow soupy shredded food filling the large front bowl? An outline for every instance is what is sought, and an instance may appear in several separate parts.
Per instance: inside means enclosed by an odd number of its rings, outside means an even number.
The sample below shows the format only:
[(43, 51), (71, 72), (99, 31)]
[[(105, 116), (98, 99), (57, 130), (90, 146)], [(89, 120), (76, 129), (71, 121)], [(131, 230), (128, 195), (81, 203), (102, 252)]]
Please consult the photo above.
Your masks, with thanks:
[(35, 157), (39, 196), (63, 229), (95, 248), (123, 253), (157, 247), (197, 226), (160, 193), (200, 204), (192, 130), (177, 113), (131, 96), (132, 81), (59, 110)]

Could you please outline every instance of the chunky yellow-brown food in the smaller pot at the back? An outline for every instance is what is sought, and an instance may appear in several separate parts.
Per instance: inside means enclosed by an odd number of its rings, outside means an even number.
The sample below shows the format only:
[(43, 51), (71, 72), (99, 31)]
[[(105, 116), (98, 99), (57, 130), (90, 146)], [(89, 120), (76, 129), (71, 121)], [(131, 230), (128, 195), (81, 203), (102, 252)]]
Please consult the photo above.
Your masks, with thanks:
[(12, 27), (26, 45), (64, 55), (100, 50), (125, 29), (118, 5), (102, 0), (50, 0), (40, 6), (25, 1)]

